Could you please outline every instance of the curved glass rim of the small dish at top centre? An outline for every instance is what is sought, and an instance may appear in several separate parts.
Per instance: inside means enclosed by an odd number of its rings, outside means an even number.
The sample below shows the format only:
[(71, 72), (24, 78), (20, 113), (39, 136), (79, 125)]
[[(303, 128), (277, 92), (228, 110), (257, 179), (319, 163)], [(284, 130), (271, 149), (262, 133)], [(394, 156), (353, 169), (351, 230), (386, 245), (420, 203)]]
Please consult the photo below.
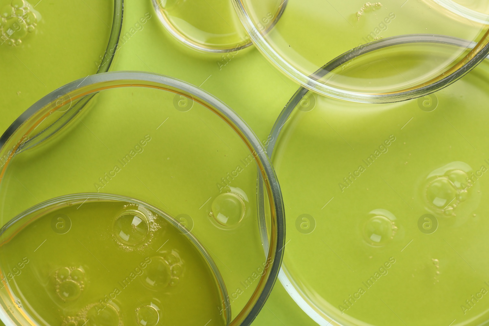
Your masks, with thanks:
[[(187, 45), (188, 47), (191, 47), (193, 49), (196, 49), (196, 50), (199, 50), (202, 52), (226, 53), (226, 52), (234, 52), (234, 51), (242, 50), (242, 49), (250, 46), (251, 44), (253, 44), (253, 42), (251, 40), (245, 40), (245, 41), (243, 41), (239, 44), (236, 44), (232, 47), (212, 48), (212, 47), (200, 44), (200, 43), (196, 43), (196, 42), (190, 40), (189, 38), (187, 38), (182, 33), (180, 33), (173, 26), (173, 24), (170, 22), (168, 17), (165, 15), (164, 10), (160, 7), (160, 4), (162, 1), (158, 1), (158, 0), (151, 0), (151, 1), (153, 2), (153, 7), (155, 8), (156, 14), (158, 15), (158, 19), (163, 24), (165, 29), (175, 39), (177, 39), (180, 43), (183, 43), (183, 44)], [(280, 17), (282, 17), (282, 14), (284, 13), (284, 10), (287, 6), (288, 1), (289, 0), (284, 0), (283, 2), (281, 2), (281, 4), (279, 5), (279, 8), (277, 9), (277, 12), (275, 13), (273, 21), (270, 23), (269, 26), (267, 26), (267, 28), (265, 28), (264, 33), (267, 33), (280, 20)]]

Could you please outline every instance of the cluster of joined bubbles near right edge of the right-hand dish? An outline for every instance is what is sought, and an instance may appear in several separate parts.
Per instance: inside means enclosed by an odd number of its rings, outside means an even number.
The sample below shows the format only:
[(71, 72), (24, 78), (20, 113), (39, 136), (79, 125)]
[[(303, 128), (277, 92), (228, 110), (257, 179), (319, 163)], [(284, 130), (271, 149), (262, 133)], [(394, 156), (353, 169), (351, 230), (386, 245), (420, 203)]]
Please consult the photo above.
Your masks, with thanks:
[(450, 170), (436, 176), (426, 186), (426, 198), (445, 216), (456, 216), (454, 210), (468, 198), (468, 189), (473, 184), (467, 173), (462, 170)]

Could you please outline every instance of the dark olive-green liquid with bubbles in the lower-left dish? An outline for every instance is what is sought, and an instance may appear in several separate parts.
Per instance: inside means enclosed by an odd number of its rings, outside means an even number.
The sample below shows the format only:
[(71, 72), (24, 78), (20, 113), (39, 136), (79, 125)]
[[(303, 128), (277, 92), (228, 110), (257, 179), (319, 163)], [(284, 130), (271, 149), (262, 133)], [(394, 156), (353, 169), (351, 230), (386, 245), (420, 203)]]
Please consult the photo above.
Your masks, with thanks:
[(39, 325), (225, 325), (218, 279), (183, 230), (130, 201), (51, 204), (4, 230), (2, 304)]

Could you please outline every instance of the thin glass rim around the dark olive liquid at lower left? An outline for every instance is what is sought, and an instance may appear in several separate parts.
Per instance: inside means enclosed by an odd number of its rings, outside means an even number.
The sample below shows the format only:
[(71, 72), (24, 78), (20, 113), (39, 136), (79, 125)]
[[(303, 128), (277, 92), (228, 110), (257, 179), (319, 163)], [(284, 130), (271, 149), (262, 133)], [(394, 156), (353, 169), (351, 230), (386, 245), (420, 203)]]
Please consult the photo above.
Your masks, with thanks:
[[(83, 201), (85, 199), (85, 201)], [(41, 210), (43, 208), (47, 208), (53, 205), (57, 204), (64, 204), (66, 202), (73, 202), (73, 201), (78, 201), (78, 202), (86, 202), (87, 200), (89, 201), (90, 199), (95, 199), (95, 200), (105, 200), (105, 201), (110, 201), (110, 200), (120, 200), (120, 201), (126, 201), (126, 202), (131, 202), (131, 203), (136, 203), (139, 205), (143, 205), (144, 207), (149, 207), (152, 211), (156, 212), (159, 214), (161, 217), (163, 217), (167, 222), (172, 224), (174, 227), (180, 230), (180, 232), (187, 237), (199, 250), (200, 254), (204, 257), (205, 261), (209, 264), (212, 272), (216, 276), (216, 280), (218, 282), (219, 290), (221, 292), (221, 295), (223, 297), (223, 302), (225, 306), (225, 311), (226, 311), (226, 325), (228, 325), (231, 321), (231, 308), (230, 308), (230, 303), (229, 303), (229, 297), (227, 295), (227, 290), (224, 285), (224, 280), (222, 279), (222, 275), (219, 271), (219, 269), (216, 266), (216, 263), (212, 259), (212, 257), (209, 255), (209, 253), (205, 250), (204, 246), (200, 243), (200, 241), (191, 233), (189, 232), (185, 227), (181, 225), (180, 222), (178, 222), (174, 217), (171, 217), (170, 215), (166, 214), (162, 210), (156, 208), (153, 205), (150, 205), (144, 201), (131, 198), (128, 196), (121, 196), (121, 195), (115, 195), (115, 194), (105, 194), (105, 193), (78, 193), (78, 194), (71, 194), (71, 195), (65, 195), (65, 196), (59, 196), (56, 198), (48, 199), (44, 202), (41, 202), (33, 207), (28, 208), (27, 210), (23, 211), (21, 214), (17, 215), (16, 217), (12, 218), (9, 220), (5, 225), (3, 225), (0, 228), (0, 235), (2, 235), (9, 227), (11, 227), (13, 224), (15, 224), (17, 221), (21, 220), (23, 217), (28, 216), (29, 214), (35, 213), (38, 210)], [(30, 223), (32, 220), (29, 220), (27, 223)], [(25, 224), (24, 224), (25, 225)], [(1, 270), (0, 270), (1, 272)], [(16, 299), (12, 296), (11, 291), (9, 290), (8, 287), (5, 287), (8, 296), (11, 299), (11, 302), (14, 302)], [(26, 319), (29, 320), (29, 318), (23, 313), (22, 310), (21, 314), (22, 316)], [(5, 315), (5, 312), (0, 309), (0, 316), (3, 316), (8, 320), (9, 318)], [(5, 319), (2, 319), (2, 321)], [(7, 326), (15, 326), (14, 323), (8, 323), (6, 324)], [(32, 324), (35, 325), (35, 324)]]

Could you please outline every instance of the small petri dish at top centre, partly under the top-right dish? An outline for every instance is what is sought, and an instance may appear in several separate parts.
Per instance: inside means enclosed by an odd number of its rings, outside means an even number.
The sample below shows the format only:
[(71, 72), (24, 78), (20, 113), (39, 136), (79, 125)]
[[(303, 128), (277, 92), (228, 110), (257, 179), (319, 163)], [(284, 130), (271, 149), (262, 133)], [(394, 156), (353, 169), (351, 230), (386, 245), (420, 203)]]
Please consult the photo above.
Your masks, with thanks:
[[(243, 25), (229, 1), (152, 0), (159, 20), (180, 43), (205, 52), (232, 52), (251, 45)], [(260, 5), (257, 25), (267, 32), (282, 16), (287, 1)]]

